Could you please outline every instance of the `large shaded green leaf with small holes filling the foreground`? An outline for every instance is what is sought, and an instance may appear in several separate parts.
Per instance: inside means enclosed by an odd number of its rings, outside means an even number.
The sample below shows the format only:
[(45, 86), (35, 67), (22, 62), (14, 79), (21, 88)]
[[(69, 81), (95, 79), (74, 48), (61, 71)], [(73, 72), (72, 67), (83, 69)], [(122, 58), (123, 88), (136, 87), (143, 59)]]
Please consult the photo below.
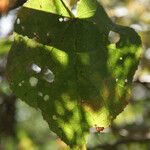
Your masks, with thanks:
[[(141, 41), (133, 29), (114, 24), (96, 0), (80, 0), (77, 18), (55, 11), (63, 6), (30, 0), (20, 11), (7, 74), (15, 94), (76, 147), (91, 127), (107, 128), (129, 102)], [(116, 44), (108, 40), (110, 31), (120, 35)]]

